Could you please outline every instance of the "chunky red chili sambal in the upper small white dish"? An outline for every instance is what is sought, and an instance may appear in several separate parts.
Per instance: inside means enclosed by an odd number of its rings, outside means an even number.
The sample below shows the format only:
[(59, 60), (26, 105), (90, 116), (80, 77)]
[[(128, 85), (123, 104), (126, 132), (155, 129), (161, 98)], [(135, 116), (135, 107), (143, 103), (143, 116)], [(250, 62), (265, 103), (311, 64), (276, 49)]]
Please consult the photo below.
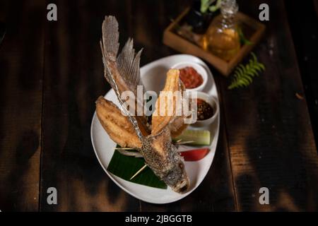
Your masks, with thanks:
[(179, 71), (180, 79), (187, 89), (197, 88), (203, 83), (202, 76), (192, 66), (179, 69)]

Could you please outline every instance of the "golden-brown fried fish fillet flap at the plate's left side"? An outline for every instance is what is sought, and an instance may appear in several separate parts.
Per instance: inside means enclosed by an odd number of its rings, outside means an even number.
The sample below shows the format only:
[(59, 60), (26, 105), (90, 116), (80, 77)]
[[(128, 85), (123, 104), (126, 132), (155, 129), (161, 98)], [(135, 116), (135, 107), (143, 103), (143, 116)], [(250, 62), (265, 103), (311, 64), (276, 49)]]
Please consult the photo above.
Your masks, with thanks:
[(98, 97), (96, 100), (96, 114), (102, 128), (115, 143), (129, 148), (141, 148), (141, 141), (136, 135), (134, 127), (113, 102)]

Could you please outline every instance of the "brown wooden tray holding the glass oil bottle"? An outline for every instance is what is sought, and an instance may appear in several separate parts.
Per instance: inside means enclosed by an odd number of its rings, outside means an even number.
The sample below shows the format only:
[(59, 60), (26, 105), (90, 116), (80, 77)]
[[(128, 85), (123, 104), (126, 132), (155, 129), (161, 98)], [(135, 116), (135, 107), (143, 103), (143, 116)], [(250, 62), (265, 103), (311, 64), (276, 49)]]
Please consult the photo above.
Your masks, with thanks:
[(225, 61), (216, 55), (213, 55), (211, 52), (205, 51), (199, 44), (191, 42), (190, 40), (187, 40), (186, 38), (177, 34), (176, 27), (179, 25), (179, 22), (182, 21), (184, 16), (187, 15), (189, 9), (190, 8), (187, 8), (184, 12), (182, 12), (177, 19), (165, 29), (163, 34), (163, 43), (184, 54), (192, 54), (196, 57), (205, 59), (214, 67), (216, 67), (216, 69), (218, 69), (218, 71), (220, 71), (220, 73), (222, 73), (224, 76), (228, 76), (235, 66), (237, 66), (237, 64), (239, 64), (240, 61), (242, 61), (242, 59), (249, 54), (255, 44), (259, 42), (265, 31), (265, 25), (259, 23), (253, 18), (250, 18), (249, 16), (246, 16), (244, 13), (237, 13), (237, 23), (242, 28), (247, 40), (251, 41), (252, 44), (243, 45), (240, 48), (240, 52), (238, 52), (233, 59), (230, 61)]

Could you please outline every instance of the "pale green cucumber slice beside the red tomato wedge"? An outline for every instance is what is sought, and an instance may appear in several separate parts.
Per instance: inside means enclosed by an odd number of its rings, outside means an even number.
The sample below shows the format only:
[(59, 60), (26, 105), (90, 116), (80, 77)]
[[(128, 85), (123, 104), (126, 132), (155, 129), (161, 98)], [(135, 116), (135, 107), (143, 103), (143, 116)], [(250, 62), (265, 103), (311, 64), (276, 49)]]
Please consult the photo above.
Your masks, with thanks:
[(210, 145), (210, 131), (208, 130), (189, 130), (184, 131), (180, 136), (174, 138), (174, 141), (194, 141), (189, 145)]

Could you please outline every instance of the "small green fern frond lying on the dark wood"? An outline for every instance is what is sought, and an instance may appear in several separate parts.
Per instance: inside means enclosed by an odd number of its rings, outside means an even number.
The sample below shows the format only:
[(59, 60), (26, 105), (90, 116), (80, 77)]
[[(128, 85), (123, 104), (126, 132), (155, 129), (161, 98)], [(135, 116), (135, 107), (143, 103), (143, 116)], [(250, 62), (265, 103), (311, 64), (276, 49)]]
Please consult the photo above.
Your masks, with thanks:
[(253, 82), (255, 76), (259, 76), (259, 73), (265, 71), (264, 64), (259, 63), (254, 52), (251, 53), (252, 59), (249, 59), (249, 63), (245, 66), (240, 64), (234, 71), (234, 78), (232, 83), (228, 86), (228, 89), (247, 87)]

